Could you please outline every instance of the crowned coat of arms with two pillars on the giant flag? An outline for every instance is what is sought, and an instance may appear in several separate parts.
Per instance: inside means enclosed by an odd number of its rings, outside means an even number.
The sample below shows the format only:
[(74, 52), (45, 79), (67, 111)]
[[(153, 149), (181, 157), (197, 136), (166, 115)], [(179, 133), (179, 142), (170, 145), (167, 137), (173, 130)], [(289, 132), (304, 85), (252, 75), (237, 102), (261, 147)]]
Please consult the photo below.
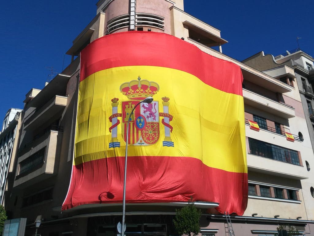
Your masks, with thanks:
[[(120, 86), (120, 92), (127, 96), (127, 101), (122, 101), (122, 113), (118, 113), (119, 99), (112, 98), (112, 115), (109, 117), (112, 126), (109, 128), (111, 132), (111, 142), (109, 148), (120, 147), (117, 137), (117, 126), (121, 123), (118, 117), (122, 118), (122, 138), (124, 142), (127, 140), (127, 122), (133, 108), (139, 101), (153, 97), (159, 92), (159, 85), (154, 81), (141, 80), (138, 76), (137, 80), (125, 82)], [(160, 137), (160, 117), (164, 117), (161, 123), (165, 126), (165, 139), (163, 146), (173, 147), (170, 133), (172, 126), (172, 115), (169, 114), (170, 98), (163, 97), (163, 112), (159, 112), (159, 101), (152, 101), (149, 104), (142, 103), (138, 105), (129, 122), (128, 144), (133, 146), (149, 146), (158, 142)]]

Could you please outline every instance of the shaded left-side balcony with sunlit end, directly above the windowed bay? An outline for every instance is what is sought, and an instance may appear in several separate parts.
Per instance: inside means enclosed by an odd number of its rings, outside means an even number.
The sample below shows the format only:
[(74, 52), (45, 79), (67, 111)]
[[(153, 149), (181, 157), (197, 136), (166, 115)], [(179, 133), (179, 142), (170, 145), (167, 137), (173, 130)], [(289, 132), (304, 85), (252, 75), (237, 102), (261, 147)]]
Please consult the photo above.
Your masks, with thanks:
[(30, 117), (25, 117), (24, 129), (33, 129), (39, 127), (61, 113), (67, 105), (67, 97), (55, 95), (41, 108), (37, 109)]

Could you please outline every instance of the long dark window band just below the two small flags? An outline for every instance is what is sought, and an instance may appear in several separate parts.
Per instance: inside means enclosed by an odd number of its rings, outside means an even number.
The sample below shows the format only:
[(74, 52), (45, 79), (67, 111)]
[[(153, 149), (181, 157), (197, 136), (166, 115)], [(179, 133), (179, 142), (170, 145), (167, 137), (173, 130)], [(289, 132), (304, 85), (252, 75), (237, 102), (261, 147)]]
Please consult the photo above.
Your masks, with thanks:
[(297, 151), (283, 148), (271, 143), (248, 138), (250, 153), (257, 156), (266, 157), (273, 160), (279, 160), (294, 165), (300, 165), (299, 154)]

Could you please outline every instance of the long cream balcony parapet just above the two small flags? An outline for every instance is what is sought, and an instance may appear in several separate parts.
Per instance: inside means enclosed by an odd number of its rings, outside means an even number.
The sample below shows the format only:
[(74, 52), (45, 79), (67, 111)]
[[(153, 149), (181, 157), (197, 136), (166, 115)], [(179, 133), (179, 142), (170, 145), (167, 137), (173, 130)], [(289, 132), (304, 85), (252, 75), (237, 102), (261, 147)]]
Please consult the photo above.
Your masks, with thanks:
[(295, 117), (295, 109), (292, 106), (278, 102), (253, 90), (243, 88), (243, 98), (245, 105), (250, 105), (286, 119)]

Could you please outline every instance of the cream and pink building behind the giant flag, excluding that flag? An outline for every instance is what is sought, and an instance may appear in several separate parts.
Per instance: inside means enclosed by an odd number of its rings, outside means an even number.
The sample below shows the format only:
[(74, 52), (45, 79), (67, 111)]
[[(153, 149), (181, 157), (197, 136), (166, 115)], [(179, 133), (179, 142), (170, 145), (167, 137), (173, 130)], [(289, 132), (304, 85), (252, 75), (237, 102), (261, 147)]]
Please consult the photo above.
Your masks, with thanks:
[[(78, 99), (79, 53), (90, 42), (123, 31), (154, 31), (181, 38), (205, 53), (235, 63), (244, 78), (243, 97), (249, 180), (243, 216), (230, 216), (236, 235), (274, 235), (279, 225), (296, 226), (311, 235), (314, 154), (302, 88), (293, 67), (271, 71), (236, 61), (222, 53), (220, 31), (184, 12), (183, 0), (100, 0), (96, 16), (67, 51), (71, 64), (42, 90), (24, 100), (17, 168), (7, 210), (27, 218), (25, 235), (115, 235), (122, 204), (89, 204), (61, 212), (73, 161)], [(213, 47), (219, 46), (219, 51)], [(153, 57), (153, 55), (152, 55)], [(269, 68), (268, 68), (269, 69)], [(267, 69), (267, 70), (268, 70)], [(288, 78), (283, 80), (281, 78)], [(253, 124), (257, 124), (258, 128)], [(219, 203), (196, 202), (203, 212), (201, 234), (228, 235)], [(175, 235), (172, 219), (179, 203), (127, 204), (127, 235)], [(208, 210), (209, 209), (209, 210)]]

